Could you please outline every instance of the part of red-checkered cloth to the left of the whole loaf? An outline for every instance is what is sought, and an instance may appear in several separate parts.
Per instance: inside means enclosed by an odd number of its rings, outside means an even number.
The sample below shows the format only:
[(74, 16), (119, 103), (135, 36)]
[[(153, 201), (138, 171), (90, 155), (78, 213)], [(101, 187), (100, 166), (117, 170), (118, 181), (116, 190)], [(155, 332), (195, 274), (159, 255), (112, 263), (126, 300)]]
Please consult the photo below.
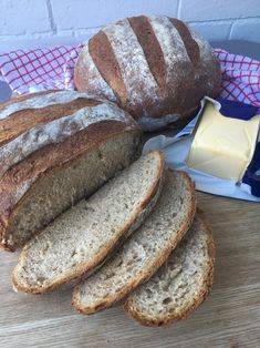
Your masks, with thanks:
[(59, 45), (0, 54), (0, 78), (19, 94), (74, 89), (73, 68), (82, 47)]

